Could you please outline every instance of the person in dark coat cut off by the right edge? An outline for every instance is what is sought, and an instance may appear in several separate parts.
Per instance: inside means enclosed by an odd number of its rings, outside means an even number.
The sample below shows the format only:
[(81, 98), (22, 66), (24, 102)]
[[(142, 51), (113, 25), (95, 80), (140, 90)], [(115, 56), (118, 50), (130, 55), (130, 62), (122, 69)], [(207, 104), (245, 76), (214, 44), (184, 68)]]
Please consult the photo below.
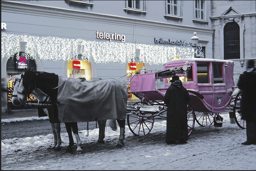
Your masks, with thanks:
[(241, 119), (246, 121), (247, 141), (242, 144), (256, 144), (256, 68), (253, 59), (248, 61), (247, 70), (240, 74), (237, 87), (242, 90)]

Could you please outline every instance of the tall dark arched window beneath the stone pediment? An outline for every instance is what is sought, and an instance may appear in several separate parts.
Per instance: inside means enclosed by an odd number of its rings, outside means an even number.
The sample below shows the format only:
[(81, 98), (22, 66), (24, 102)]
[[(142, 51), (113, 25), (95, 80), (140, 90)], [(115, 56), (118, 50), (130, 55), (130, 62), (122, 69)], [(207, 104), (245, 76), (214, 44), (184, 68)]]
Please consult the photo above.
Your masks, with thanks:
[(224, 27), (224, 59), (240, 59), (240, 34), (236, 22), (229, 22)]

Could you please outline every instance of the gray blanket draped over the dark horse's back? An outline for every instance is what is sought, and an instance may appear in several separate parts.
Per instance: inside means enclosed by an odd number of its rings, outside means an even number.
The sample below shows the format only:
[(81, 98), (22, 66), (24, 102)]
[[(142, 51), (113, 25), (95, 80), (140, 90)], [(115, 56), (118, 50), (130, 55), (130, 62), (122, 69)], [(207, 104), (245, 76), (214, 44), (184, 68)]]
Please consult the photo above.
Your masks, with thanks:
[(57, 96), (60, 122), (125, 119), (128, 91), (114, 78), (85, 80), (59, 76)]

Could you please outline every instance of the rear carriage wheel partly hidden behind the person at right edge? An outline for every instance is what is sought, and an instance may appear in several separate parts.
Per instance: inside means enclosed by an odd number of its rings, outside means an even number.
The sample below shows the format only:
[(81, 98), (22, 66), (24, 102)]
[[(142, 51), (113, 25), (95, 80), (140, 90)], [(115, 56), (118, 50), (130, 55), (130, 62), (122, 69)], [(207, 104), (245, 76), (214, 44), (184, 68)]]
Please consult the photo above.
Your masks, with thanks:
[(236, 95), (233, 112), (235, 113), (235, 116), (236, 116), (235, 117), (236, 124), (240, 128), (246, 128), (246, 121), (241, 119), (241, 113), (240, 113), (240, 105), (241, 105), (241, 98), (242, 98), (241, 93), (242, 91), (239, 91)]

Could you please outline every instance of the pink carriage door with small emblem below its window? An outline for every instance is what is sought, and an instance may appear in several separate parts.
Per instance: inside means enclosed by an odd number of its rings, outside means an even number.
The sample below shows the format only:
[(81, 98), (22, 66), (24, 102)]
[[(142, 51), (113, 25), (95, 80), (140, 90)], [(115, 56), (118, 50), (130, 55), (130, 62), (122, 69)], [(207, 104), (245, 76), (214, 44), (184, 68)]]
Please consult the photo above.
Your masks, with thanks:
[(224, 83), (224, 63), (213, 62), (213, 83), (214, 83), (214, 99), (213, 109), (222, 112), (225, 108), (226, 84)]

